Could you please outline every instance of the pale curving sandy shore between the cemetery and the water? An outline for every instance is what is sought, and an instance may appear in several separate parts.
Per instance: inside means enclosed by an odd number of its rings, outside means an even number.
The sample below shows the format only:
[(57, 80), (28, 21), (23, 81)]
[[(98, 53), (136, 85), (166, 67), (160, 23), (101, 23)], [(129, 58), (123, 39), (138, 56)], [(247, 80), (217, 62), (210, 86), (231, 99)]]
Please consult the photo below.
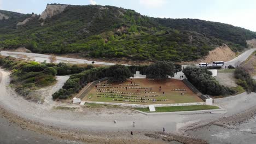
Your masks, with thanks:
[[(3, 94), (6, 91), (6, 95), (4, 95), (4, 97), (2, 96), (3, 98), (0, 97), (0, 110), (1, 113), (4, 113), (4, 117), (7, 117), (9, 121), (20, 125), (22, 128), (37, 131), (41, 134), (54, 136), (58, 139), (82, 141), (87, 143), (165, 143), (166, 141), (173, 140), (183, 143), (188, 143), (191, 141), (206, 143), (205, 141), (196, 139), (194, 136), (188, 135), (187, 133), (189, 128), (193, 128), (191, 125), (196, 126), (196, 121), (197, 123), (205, 122), (205, 125), (209, 125), (212, 123), (212, 121), (218, 122), (218, 120), (224, 121), (226, 119), (225, 121), (228, 122), (228, 124), (230, 123), (229, 121), (231, 121), (232, 124), (232, 119), (236, 118), (237, 116), (244, 116), (241, 115), (241, 113), (239, 114), (239, 111), (237, 111), (237, 115), (234, 115), (236, 114), (236, 111), (231, 111), (229, 116), (231, 118), (223, 117), (225, 115), (212, 115), (204, 113), (195, 115), (164, 115), (161, 116), (161, 119), (159, 119), (159, 117), (144, 116), (141, 113), (136, 113), (127, 109), (102, 110), (100, 108), (90, 109), (84, 106), (76, 109), (74, 112), (54, 110), (54, 104), (52, 104), (51, 101), (50, 103), (45, 104), (33, 104), (19, 95), (16, 95), (15, 92), (13, 92), (13, 89), (6, 87), (8, 86), (9, 72), (4, 71), (3, 69), (1, 69), (0, 72), (2, 72), (3, 75), (0, 75), (1, 85), (4, 86), (1, 87)], [(254, 93), (251, 94), (250, 97), (253, 95)], [(243, 98), (244, 96), (241, 97)], [(237, 100), (237, 98), (234, 100)], [(243, 99), (241, 99), (241, 101), (243, 101)], [(223, 102), (223, 104), (225, 104), (225, 102)], [(70, 105), (73, 107), (75, 106), (72, 104), (60, 104), (60, 106)], [(243, 112), (243, 109), (247, 109), (249, 106), (241, 107), (240, 112)], [(255, 106), (250, 108), (256, 110)], [(251, 111), (246, 112), (245, 115), (248, 115), (248, 113), (251, 113)], [(116, 125), (113, 124), (114, 117), (118, 117), (118, 124)], [(248, 115), (246, 118), (251, 117), (252, 115)], [(53, 121), (54, 119), (57, 121)], [(130, 121), (133, 119), (137, 119), (136, 126), (137, 124), (138, 126), (136, 128), (132, 128), (130, 125)], [(139, 122), (138, 119), (140, 119), (140, 121), (143, 123)], [(244, 122), (246, 119), (240, 120), (241, 121), (238, 123)], [(67, 123), (69, 125), (67, 125)], [(164, 123), (163, 126), (162, 123)], [(104, 127), (97, 125), (103, 125)], [(179, 127), (179, 125), (182, 127)], [(162, 127), (165, 127), (168, 130), (166, 131), (166, 134), (159, 132), (161, 131)], [(187, 128), (185, 129), (185, 127)], [(200, 129), (200, 127), (197, 128)], [(185, 131), (182, 131), (184, 129)], [(130, 135), (131, 130), (134, 134), (132, 137)], [(153, 137), (149, 137), (149, 135)], [(158, 136), (159, 138), (155, 139), (154, 135)], [(174, 139), (171, 137), (176, 138)]]

